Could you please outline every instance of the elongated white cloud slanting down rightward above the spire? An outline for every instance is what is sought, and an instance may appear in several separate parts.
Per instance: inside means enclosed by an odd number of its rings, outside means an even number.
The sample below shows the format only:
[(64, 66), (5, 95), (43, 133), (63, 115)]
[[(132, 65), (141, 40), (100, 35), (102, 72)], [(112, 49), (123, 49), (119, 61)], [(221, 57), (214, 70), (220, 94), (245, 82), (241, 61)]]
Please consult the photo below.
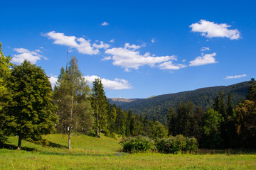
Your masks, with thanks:
[(49, 39), (53, 39), (53, 44), (57, 45), (65, 45), (70, 48), (75, 48), (78, 52), (84, 55), (97, 55), (100, 53), (100, 48), (107, 48), (110, 45), (105, 44), (100, 41), (100, 45), (91, 44), (90, 40), (85, 40), (85, 38), (76, 38), (75, 36), (66, 36), (64, 33), (55, 33), (55, 31), (51, 31), (45, 34)]

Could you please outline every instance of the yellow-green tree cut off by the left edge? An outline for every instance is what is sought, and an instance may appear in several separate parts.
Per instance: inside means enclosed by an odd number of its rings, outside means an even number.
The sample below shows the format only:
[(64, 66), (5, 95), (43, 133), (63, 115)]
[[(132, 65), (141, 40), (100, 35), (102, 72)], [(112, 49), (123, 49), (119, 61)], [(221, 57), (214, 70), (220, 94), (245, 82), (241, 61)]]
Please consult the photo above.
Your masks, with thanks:
[(6, 138), (4, 137), (4, 129), (6, 119), (6, 106), (11, 101), (11, 89), (8, 86), (9, 77), (11, 75), (11, 57), (4, 56), (1, 51), (0, 42), (0, 142), (3, 142)]

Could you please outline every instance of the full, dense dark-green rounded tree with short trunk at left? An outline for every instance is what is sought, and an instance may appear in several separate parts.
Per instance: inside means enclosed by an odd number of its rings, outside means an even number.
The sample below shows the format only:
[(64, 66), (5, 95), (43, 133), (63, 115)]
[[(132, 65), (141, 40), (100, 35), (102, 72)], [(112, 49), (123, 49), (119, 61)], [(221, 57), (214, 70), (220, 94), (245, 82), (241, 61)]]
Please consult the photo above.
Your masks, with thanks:
[(26, 60), (14, 67), (10, 87), (14, 93), (7, 126), (11, 133), (18, 135), (18, 149), (21, 149), (21, 140), (41, 140), (42, 135), (50, 133), (58, 117), (50, 81), (41, 67)]

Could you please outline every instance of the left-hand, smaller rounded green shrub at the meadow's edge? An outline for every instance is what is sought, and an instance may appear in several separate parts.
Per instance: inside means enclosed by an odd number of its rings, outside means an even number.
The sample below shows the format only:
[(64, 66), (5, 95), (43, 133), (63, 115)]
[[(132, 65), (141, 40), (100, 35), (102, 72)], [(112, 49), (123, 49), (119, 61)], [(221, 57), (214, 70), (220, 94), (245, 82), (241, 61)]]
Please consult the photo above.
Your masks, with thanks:
[(123, 138), (120, 144), (123, 147), (123, 152), (146, 152), (155, 149), (154, 141), (144, 136)]

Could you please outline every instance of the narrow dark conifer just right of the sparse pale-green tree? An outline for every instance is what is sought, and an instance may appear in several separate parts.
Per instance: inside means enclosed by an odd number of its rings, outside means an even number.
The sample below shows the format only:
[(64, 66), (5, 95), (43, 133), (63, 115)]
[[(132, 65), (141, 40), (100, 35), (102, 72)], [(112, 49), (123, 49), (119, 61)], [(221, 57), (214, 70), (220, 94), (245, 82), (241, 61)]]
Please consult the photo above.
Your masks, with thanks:
[(107, 128), (107, 97), (100, 79), (93, 81), (92, 87), (92, 109), (95, 115), (95, 136), (100, 137), (101, 131)]

